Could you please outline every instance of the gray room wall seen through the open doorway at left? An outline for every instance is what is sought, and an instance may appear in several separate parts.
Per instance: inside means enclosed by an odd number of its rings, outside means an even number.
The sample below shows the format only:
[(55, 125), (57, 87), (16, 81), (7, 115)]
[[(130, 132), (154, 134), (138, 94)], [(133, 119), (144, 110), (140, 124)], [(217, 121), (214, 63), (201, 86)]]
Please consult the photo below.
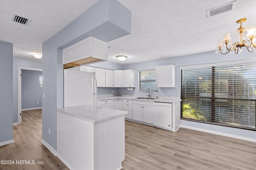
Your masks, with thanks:
[(22, 70), (21, 74), (21, 109), (42, 107), (42, 71)]

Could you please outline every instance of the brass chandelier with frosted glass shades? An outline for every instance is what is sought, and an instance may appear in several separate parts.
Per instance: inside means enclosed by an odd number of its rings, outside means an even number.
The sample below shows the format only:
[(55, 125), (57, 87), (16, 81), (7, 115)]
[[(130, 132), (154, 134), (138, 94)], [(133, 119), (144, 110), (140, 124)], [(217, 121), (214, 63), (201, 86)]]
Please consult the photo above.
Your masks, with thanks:
[(249, 52), (255, 51), (256, 48), (256, 26), (250, 26), (247, 28), (242, 27), (242, 23), (246, 21), (246, 18), (237, 20), (236, 23), (240, 23), (240, 27), (237, 29), (239, 33), (240, 42), (236, 41), (232, 43), (230, 33), (226, 34), (223, 40), (218, 44), (215, 53), (227, 54), (230, 51), (233, 54), (241, 53), (242, 47), (246, 47)]

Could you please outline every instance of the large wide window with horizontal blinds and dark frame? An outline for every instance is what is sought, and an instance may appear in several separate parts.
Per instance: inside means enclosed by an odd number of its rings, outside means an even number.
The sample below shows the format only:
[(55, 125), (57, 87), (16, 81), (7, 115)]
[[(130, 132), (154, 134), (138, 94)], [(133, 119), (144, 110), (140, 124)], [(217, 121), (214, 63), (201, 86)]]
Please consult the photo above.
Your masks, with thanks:
[(181, 70), (182, 119), (255, 129), (256, 63)]

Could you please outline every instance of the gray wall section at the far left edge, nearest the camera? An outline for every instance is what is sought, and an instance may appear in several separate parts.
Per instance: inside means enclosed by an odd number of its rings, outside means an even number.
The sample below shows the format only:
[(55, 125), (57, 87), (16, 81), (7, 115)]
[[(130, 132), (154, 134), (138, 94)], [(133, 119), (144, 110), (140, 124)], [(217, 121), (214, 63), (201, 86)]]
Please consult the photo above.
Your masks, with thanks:
[(13, 44), (0, 41), (0, 143), (12, 137)]

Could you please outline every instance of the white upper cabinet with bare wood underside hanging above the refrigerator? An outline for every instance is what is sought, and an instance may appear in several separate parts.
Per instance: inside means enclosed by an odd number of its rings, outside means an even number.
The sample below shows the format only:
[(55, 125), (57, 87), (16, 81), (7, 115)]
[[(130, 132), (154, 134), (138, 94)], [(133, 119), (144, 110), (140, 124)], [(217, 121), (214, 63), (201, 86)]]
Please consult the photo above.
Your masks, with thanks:
[(107, 60), (108, 45), (106, 42), (88, 37), (66, 49), (63, 49), (64, 68), (80, 66), (100, 60)]

